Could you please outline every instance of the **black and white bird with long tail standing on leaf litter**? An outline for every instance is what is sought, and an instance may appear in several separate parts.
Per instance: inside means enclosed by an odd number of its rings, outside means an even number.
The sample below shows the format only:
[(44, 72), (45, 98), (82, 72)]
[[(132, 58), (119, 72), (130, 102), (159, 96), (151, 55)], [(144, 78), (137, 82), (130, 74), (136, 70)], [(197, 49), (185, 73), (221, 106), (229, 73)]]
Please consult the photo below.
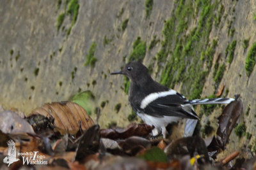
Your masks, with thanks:
[(235, 99), (193, 99), (188, 100), (179, 92), (154, 81), (146, 66), (132, 61), (111, 74), (124, 74), (130, 80), (129, 103), (132, 110), (148, 125), (154, 125), (153, 136), (162, 132), (166, 138), (166, 126), (180, 118), (198, 120), (192, 105), (228, 104)]

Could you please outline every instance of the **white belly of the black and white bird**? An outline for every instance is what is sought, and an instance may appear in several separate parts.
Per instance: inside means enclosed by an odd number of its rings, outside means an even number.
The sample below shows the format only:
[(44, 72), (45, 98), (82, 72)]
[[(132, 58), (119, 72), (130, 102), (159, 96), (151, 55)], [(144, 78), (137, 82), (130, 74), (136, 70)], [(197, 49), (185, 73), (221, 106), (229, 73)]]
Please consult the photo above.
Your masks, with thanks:
[(137, 115), (148, 125), (154, 125), (154, 127), (159, 131), (162, 127), (166, 127), (166, 125), (172, 122), (178, 122), (180, 120), (179, 117), (152, 117), (145, 113), (137, 112)]

